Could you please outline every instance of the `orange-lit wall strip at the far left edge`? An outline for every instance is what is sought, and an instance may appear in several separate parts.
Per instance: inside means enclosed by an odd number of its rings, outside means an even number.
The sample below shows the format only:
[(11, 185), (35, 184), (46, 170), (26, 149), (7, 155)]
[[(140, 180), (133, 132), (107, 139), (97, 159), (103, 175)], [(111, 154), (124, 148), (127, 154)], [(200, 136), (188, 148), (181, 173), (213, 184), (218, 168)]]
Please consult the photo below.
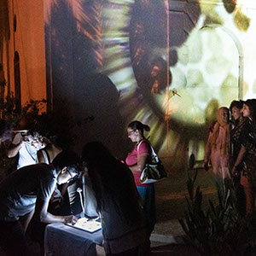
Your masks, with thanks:
[(9, 23), (9, 40), (3, 40), (5, 93), (15, 91), (14, 57), (17, 51), (20, 56), (21, 103), (45, 99), (44, 1), (6, 0), (2, 4), (9, 11), (9, 16), (4, 18), (5, 24)]

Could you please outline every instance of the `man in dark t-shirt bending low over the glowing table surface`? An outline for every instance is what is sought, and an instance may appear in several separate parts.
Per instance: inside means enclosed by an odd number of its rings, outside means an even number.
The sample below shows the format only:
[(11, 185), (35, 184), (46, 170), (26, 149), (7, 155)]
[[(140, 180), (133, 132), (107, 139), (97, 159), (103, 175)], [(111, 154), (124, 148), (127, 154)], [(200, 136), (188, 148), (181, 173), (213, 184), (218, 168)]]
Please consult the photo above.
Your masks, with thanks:
[(31, 255), (25, 234), (33, 215), (47, 224), (76, 223), (75, 216), (55, 216), (47, 208), (55, 183), (67, 183), (79, 173), (77, 154), (63, 152), (51, 166), (25, 166), (0, 183), (0, 246), (7, 255)]

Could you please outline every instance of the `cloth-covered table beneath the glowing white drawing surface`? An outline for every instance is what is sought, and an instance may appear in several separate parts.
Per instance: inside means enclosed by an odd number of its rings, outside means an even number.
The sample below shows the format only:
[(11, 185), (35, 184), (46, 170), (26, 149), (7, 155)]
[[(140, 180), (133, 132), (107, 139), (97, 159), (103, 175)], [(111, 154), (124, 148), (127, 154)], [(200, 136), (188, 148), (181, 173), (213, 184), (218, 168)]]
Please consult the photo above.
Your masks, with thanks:
[(102, 245), (102, 230), (89, 233), (62, 223), (49, 224), (45, 229), (46, 256), (96, 256), (96, 244)]

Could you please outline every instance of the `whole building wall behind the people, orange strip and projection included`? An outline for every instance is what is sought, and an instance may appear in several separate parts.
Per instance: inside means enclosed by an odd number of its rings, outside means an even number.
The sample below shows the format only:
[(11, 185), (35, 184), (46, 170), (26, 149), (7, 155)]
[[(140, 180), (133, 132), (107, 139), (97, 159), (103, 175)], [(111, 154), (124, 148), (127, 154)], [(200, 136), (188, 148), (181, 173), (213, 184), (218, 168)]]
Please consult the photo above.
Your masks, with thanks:
[(123, 158), (138, 119), (166, 165), (184, 168), (203, 158), (218, 107), (256, 96), (253, 1), (44, 0), (44, 14), (43, 2), (12, 3), (22, 101), (46, 95), (45, 42), (50, 108), (73, 115), (78, 151), (100, 140)]

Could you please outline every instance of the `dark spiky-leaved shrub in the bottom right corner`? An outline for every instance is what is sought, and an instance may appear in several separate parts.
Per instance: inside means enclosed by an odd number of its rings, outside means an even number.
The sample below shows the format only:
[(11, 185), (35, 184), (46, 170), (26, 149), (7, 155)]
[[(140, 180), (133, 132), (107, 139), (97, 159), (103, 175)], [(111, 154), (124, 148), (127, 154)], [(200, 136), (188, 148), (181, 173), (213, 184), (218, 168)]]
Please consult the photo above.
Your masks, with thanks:
[(189, 177), (187, 188), (188, 209), (179, 219), (186, 242), (201, 255), (254, 255), (256, 249), (255, 212), (243, 216), (236, 209), (236, 196), (232, 184), (225, 183), (224, 195), (218, 191), (218, 203), (209, 201), (207, 210), (202, 209), (200, 186), (195, 189), (195, 179)]

